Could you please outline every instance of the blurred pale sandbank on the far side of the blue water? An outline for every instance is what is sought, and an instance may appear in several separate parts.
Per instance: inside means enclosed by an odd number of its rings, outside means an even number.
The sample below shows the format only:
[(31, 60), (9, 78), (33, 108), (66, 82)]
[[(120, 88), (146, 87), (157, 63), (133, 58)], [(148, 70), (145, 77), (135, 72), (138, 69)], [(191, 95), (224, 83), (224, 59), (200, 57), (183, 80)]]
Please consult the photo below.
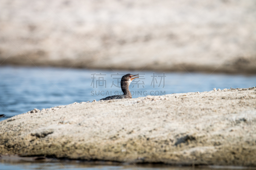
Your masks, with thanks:
[(256, 73), (255, 0), (2, 0), (0, 14), (2, 64)]

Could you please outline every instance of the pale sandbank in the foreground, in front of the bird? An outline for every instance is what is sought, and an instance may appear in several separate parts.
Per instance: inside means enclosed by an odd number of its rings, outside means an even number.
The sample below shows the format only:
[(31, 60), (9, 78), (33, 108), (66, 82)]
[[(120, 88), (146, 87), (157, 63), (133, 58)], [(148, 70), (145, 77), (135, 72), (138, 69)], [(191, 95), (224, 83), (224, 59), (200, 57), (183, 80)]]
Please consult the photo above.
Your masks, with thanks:
[(256, 88), (73, 103), (0, 122), (0, 154), (256, 166)]

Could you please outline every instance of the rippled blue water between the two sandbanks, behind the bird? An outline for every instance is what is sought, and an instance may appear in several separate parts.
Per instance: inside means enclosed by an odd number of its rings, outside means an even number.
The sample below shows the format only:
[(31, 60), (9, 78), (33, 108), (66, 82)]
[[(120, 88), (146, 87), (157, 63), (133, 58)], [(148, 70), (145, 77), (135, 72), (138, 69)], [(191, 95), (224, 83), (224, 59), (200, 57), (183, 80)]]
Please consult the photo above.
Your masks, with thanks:
[[(93, 79), (91, 74), (100, 73), (105, 75), (95, 75), (95, 79)], [(116, 73), (121, 75), (116, 76)], [(120, 93), (121, 88), (116, 87), (118, 86), (117, 78), (120, 81), (122, 74), (127, 73), (137, 74), (138, 71), (115, 70), (114, 72), (113, 70), (1, 66), (0, 114), (5, 114), (6, 118), (9, 118), (26, 113), (34, 108), (42, 109), (74, 102), (100, 100), (108, 95), (114, 95), (115, 91), (116, 94)], [(135, 84), (131, 83), (129, 87), (133, 98), (150, 94), (204, 92), (211, 91), (213, 88), (256, 86), (255, 75), (165, 73), (166, 77), (164, 77), (164, 81), (163, 78), (161, 81), (161, 77), (151, 77), (154, 74), (155, 76), (163, 76), (163, 72), (140, 72), (140, 78), (142, 79), (135, 79), (137, 83), (133, 82)], [(152, 81), (152, 78), (154, 78), (154, 81)], [(96, 81), (99, 79), (100, 81)], [(99, 95), (99, 92), (102, 95)], [(0, 121), (6, 118), (0, 118)]]

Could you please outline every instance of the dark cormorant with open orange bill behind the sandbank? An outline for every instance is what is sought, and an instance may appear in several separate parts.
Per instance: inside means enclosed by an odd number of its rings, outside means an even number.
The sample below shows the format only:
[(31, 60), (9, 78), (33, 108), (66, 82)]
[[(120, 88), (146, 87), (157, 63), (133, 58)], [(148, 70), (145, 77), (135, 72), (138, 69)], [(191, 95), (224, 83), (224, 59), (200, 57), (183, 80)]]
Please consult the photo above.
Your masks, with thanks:
[(139, 75), (126, 74), (121, 78), (121, 89), (124, 93), (123, 95), (108, 96), (108, 97), (100, 99), (100, 100), (131, 99), (132, 94), (129, 91), (129, 85), (134, 78), (139, 78), (139, 77), (134, 77), (134, 76), (139, 76)]

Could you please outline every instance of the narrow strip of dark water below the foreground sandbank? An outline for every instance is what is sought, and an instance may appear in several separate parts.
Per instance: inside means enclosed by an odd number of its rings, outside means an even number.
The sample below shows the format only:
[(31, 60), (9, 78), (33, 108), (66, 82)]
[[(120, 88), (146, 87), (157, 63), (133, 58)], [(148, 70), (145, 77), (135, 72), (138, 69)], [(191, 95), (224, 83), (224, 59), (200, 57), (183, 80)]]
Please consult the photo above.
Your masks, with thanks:
[(151, 165), (125, 165), (120, 163), (115, 163), (115, 165), (95, 165), (92, 163), (84, 163), (80, 161), (52, 161), (52, 162), (17, 162), (17, 161), (1, 161), (0, 159), (0, 169), (1, 170), (42, 170), (42, 169), (58, 169), (58, 170), (237, 170), (237, 169), (255, 169), (246, 168), (239, 166), (168, 166), (161, 164), (151, 164)]

